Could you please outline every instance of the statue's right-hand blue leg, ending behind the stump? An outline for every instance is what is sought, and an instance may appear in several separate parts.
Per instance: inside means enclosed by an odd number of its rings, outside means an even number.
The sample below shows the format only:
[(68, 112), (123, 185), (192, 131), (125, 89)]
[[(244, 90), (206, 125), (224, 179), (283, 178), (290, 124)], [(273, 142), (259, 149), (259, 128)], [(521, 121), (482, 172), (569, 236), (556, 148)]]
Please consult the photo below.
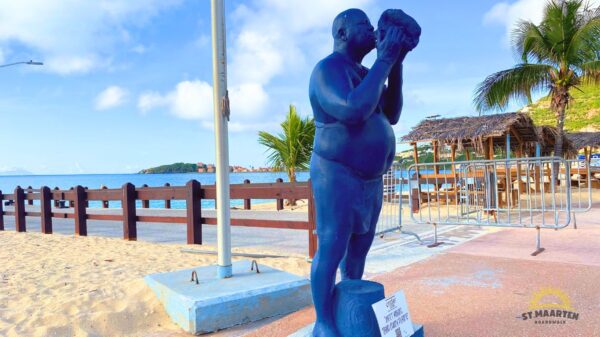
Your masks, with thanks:
[[(368, 221), (368, 231), (366, 233), (353, 233), (348, 243), (348, 251), (340, 265), (342, 279), (359, 280), (365, 271), (365, 261), (367, 253), (375, 237), (375, 229), (379, 220), (379, 213), (383, 204), (383, 185), (371, 184), (366, 191), (368, 200), (365, 207), (371, 207), (369, 212), (365, 212), (368, 219), (355, 219), (354, 221)], [(355, 227), (356, 228), (356, 227)]]

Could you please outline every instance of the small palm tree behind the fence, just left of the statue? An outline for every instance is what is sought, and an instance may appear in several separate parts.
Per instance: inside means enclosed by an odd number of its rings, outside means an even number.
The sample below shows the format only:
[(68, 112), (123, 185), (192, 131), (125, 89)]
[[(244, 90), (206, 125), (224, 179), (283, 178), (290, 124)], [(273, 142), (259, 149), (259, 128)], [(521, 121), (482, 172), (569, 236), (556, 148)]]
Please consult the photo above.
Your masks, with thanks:
[[(283, 133), (272, 135), (258, 133), (258, 142), (267, 147), (267, 161), (275, 169), (285, 170), (290, 182), (296, 182), (296, 170), (307, 170), (315, 138), (315, 122), (312, 118), (301, 119), (296, 107), (290, 104), (285, 121), (281, 123)], [(289, 200), (291, 206), (296, 200)]]

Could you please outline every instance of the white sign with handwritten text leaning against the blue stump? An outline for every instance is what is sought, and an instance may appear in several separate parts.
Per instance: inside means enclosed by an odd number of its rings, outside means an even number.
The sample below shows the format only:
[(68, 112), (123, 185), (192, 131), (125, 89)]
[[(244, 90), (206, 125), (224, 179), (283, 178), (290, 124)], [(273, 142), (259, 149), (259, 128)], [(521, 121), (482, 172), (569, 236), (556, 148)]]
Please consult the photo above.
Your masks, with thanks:
[(410, 337), (415, 333), (402, 290), (373, 304), (373, 311), (381, 337)]

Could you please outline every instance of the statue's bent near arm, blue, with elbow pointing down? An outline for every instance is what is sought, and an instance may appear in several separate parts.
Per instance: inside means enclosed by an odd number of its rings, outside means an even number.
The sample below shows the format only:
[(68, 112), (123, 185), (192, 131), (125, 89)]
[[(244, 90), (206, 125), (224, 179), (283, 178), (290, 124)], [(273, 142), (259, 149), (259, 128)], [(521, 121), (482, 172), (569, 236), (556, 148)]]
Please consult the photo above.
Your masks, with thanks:
[(378, 59), (367, 76), (352, 88), (350, 77), (337, 60), (321, 63), (313, 74), (312, 85), (325, 112), (342, 123), (357, 124), (375, 111), (390, 75), (392, 63)]

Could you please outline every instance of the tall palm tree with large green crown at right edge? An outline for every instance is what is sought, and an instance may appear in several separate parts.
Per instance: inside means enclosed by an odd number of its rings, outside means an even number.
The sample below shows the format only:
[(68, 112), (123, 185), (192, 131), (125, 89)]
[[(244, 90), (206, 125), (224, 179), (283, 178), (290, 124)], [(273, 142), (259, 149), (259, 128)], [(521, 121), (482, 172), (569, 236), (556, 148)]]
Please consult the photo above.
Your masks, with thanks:
[(522, 63), (480, 83), (475, 106), (480, 113), (503, 109), (511, 99), (531, 103), (531, 92), (547, 92), (558, 129), (554, 155), (562, 157), (570, 91), (581, 90), (580, 84), (600, 84), (600, 7), (551, 0), (539, 25), (517, 23), (513, 45)]

